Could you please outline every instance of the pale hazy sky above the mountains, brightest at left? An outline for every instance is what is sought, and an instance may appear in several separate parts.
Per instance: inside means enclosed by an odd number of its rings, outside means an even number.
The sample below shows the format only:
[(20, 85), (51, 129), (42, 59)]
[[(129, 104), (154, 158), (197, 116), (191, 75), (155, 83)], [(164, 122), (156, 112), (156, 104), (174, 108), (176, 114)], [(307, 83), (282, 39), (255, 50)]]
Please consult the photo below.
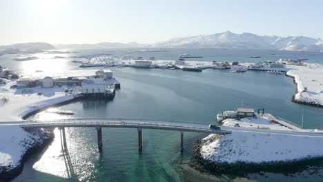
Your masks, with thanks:
[(153, 43), (230, 30), (323, 37), (322, 0), (0, 0), (0, 45)]

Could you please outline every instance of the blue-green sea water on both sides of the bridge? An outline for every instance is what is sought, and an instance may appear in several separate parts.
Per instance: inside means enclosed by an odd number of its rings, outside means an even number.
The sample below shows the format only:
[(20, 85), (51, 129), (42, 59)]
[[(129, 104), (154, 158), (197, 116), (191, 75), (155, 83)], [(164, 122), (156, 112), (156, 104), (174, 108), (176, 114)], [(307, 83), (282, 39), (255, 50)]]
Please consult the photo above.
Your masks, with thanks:
[[(115, 51), (115, 50), (114, 50)], [(86, 50), (79, 54), (108, 52)], [(170, 52), (128, 53), (111, 52), (117, 56), (134, 54), (134, 57), (175, 59), (178, 54), (189, 53), (204, 56), (204, 61), (255, 61), (250, 56), (309, 58), (321, 62), (321, 53), (275, 52), (271, 50), (171, 50)], [(0, 57), (0, 59), (3, 59)], [(39, 61), (39, 60), (38, 60)], [(66, 69), (79, 69), (68, 59), (47, 60), (47, 64), (59, 64)], [(258, 59), (257, 59), (258, 61)], [(3, 65), (17, 68), (23, 73), (26, 64), (19, 61), (1, 60)], [(32, 63), (32, 62), (31, 62)], [(10, 66), (11, 65), (11, 66)], [(37, 68), (38, 69), (38, 68)], [(40, 69), (40, 68), (39, 68)], [(235, 110), (239, 106), (265, 108), (275, 116), (301, 123), (304, 111), (304, 128), (323, 128), (322, 108), (313, 108), (291, 102), (295, 93), (293, 80), (284, 75), (248, 71), (241, 74), (227, 70), (182, 70), (109, 68), (121, 82), (112, 101), (79, 101), (63, 105), (61, 110), (77, 112), (73, 117), (101, 117), (107, 119), (144, 119), (187, 123), (215, 123), (215, 116), (222, 110)], [(41, 112), (32, 119), (63, 118), (57, 114)], [(205, 174), (191, 171), (187, 163), (191, 158), (193, 142), (205, 134), (184, 133), (184, 153), (179, 152), (179, 132), (143, 130), (143, 151), (138, 152), (137, 130), (104, 128), (101, 153), (97, 151), (94, 128), (68, 128), (68, 155), (63, 155), (59, 130), (55, 140), (35, 154), (26, 163), (23, 173), (14, 181), (206, 181)], [(253, 180), (302, 181), (311, 176), (320, 181), (321, 166), (316, 171), (304, 171), (303, 175), (284, 176), (266, 173), (248, 174)], [(313, 167), (313, 168), (314, 168)], [(212, 180), (219, 180), (213, 176)]]

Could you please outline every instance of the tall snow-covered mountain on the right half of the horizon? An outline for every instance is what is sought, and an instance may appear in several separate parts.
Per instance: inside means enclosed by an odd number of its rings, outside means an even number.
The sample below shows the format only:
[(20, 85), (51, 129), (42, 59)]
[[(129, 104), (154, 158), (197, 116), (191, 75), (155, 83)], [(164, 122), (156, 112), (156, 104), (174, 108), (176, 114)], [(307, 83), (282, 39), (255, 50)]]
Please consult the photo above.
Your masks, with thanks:
[(322, 51), (323, 41), (311, 37), (260, 36), (251, 33), (235, 34), (227, 31), (161, 41), (153, 47), (166, 48), (246, 48), (275, 50)]

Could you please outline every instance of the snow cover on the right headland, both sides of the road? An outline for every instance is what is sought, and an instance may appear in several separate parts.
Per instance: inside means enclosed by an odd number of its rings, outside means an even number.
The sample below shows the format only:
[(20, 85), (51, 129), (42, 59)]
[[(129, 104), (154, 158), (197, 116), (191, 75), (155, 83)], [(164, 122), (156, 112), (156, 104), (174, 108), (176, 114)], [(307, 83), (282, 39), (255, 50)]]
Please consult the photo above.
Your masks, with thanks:
[[(244, 128), (293, 131), (280, 124), (271, 123), (272, 118), (270, 114), (265, 114), (257, 119), (226, 119), (223, 125), (234, 126), (238, 123)], [(204, 145), (200, 152), (204, 159), (219, 163), (291, 161), (323, 155), (323, 140), (319, 137), (232, 132), (221, 138), (210, 134), (202, 141)]]

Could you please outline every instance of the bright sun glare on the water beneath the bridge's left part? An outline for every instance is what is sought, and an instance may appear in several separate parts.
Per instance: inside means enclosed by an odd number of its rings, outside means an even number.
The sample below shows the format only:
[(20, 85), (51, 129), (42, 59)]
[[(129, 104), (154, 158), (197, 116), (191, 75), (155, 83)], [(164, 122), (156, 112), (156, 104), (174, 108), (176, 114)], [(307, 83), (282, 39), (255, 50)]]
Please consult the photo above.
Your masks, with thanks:
[[(54, 141), (32, 168), (72, 181), (88, 181), (94, 176), (95, 163), (99, 159), (94, 136), (88, 139), (93, 128), (66, 128), (67, 148), (63, 145), (62, 131), (55, 129)], [(91, 130), (93, 135), (95, 130)]]

